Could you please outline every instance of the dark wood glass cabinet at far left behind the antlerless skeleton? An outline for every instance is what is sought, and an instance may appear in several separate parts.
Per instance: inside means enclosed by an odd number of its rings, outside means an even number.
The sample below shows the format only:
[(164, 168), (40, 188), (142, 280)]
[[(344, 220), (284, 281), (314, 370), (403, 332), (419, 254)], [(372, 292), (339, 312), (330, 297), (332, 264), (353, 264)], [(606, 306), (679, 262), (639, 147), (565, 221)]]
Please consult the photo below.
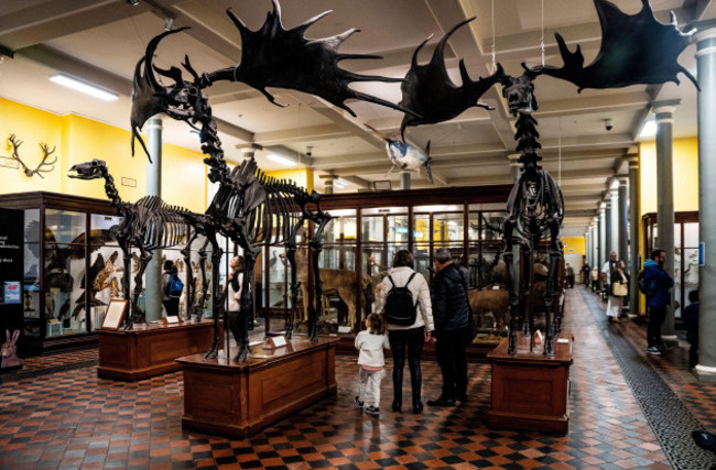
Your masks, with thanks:
[[(121, 220), (115, 208), (108, 200), (46, 192), (0, 195), (0, 207), (25, 214), (23, 342), (31, 349), (43, 350), (96, 341), (95, 331), (101, 325), (107, 304), (112, 298), (123, 298), (122, 255), (111, 236), (112, 226)], [(227, 250), (232, 249), (225, 240), (223, 243)], [(199, 277), (199, 245), (197, 241), (191, 253), (195, 277)], [(163, 250), (160, 261), (175, 261), (186, 286), (182, 248)], [(208, 256), (206, 269), (210, 273), (210, 252)], [(138, 267), (137, 252), (132, 258), (131, 277)], [(221, 273), (226, 274), (225, 267)], [(130, 291), (133, 288), (131, 278)], [(205, 315), (210, 311), (210, 300), (204, 305)], [(142, 294), (140, 307), (143, 303)], [(186, 288), (180, 307), (185, 317), (191, 308)]]

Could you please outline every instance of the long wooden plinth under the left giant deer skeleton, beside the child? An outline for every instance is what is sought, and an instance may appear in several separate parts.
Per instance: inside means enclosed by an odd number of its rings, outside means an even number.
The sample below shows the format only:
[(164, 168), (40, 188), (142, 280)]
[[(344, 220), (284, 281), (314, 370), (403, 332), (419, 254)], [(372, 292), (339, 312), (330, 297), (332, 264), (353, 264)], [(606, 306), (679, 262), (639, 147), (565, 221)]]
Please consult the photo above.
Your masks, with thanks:
[[(274, 350), (251, 348), (246, 362), (202, 354), (184, 368), (184, 427), (246, 437), (336, 393), (336, 338), (295, 338)], [(231, 348), (231, 354), (236, 349)]]

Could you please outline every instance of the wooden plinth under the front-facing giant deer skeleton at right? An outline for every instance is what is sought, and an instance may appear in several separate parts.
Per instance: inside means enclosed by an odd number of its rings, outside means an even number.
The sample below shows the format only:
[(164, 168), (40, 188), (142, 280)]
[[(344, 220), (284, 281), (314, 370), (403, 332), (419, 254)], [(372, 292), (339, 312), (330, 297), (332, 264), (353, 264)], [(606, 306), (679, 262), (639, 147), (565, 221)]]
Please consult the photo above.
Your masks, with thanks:
[(487, 354), (492, 363), (490, 427), (567, 434), (572, 336), (561, 338), (568, 342), (555, 341), (552, 358), (542, 354), (542, 345), (529, 352), (528, 338), (521, 335), (517, 354), (507, 353), (507, 339)]

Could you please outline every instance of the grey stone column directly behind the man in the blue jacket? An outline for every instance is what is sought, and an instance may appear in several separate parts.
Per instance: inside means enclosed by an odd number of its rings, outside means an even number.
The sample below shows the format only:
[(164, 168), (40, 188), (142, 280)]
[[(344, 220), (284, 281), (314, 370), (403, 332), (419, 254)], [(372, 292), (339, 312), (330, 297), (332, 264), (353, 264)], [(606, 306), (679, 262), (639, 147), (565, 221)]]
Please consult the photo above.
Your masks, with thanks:
[[(679, 100), (653, 103), (657, 121), (657, 227), (659, 230), (659, 247), (666, 251), (664, 270), (674, 275), (674, 168), (673, 168), (673, 113)], [(712, 131), (713, 132), (713, 131)], [(671, 291), (672, 302), (666, 307), (666, 318), (661, 328), (664, 339), (676, 339), (674, 331), (674, 291)]]

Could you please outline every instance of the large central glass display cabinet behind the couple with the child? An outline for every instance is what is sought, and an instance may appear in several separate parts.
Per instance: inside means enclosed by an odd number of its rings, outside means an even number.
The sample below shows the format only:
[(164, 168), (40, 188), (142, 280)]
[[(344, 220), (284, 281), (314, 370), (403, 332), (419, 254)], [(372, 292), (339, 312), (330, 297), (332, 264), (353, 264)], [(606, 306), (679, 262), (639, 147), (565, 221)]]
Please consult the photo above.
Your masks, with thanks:
[[(501, 261), (501, 227), (511, 185), (366, 192), (322, 195), (322, 208), (333, 217), (324, 232), (319, 267), (324, 289), (323, 334), (352, 337), (376, 306), (376, 287), (391, 267), (395, 251), (408, 249), (415, 255), (415, 269), (432, 283), (433, 252), (451, 250), (453, 258), (468, 266), (470, 287), (492, 289), (507, 298), (505, 265)], [(313, 228), (310, 229), (310, 232)], [(305, 237), (300, 240), (296, 264), (299, 281), (312, 274), (305, 263)], [(264, 249), (261, 307), (269, 330), (284, 327), (291, 308), (290, 272), (282, 247)], [(302, 265), (304, 271), (302, 272)], [(303, 311), (303, 291), (296, 309), (296, 331)], [(507, 305), (507, 304), (505, 304)], [(477, 318), (479, 340), (499, 342), (505, 318), (486, 311)]]

